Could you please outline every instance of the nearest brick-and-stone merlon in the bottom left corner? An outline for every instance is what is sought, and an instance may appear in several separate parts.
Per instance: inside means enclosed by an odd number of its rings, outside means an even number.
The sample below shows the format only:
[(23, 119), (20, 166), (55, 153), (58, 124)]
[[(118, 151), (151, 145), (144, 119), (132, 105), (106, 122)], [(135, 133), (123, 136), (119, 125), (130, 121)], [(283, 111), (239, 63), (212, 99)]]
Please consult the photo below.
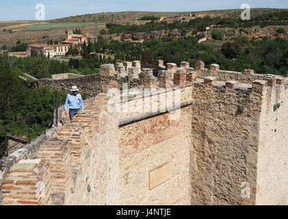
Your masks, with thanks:
[(51, 171), (42, 159), (21, 159), (2, 181), (4, 205), (51, 205)]

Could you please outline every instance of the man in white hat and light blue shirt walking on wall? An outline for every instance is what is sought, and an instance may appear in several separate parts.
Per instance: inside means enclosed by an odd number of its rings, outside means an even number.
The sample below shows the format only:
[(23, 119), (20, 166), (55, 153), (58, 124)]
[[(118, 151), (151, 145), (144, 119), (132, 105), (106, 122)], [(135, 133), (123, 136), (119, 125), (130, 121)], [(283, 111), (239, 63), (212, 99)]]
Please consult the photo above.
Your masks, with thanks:
[(69, 116), (71, 121), (77, 112), (79, 112), (79, 110), (84, 110), (84, 105), (81, 94), (77, 93), (79, 90), (77, 86), (73, 86), (70, 90), (72, 93), (67, 95), (64, 110), (65, 115), (68, 116), (67, 110), (69, 108)]

